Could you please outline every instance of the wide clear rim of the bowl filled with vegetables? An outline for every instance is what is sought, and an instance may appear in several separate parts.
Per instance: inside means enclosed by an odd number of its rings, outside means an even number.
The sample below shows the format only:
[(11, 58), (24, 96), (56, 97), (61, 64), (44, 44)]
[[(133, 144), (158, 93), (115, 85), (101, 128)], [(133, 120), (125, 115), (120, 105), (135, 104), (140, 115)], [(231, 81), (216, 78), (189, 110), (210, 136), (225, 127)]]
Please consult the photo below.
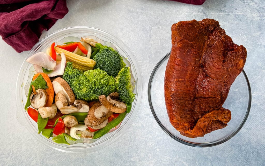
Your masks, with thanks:
[[(86, 147), (77, 147), (77, 146), (67, 146), (67, 145), (60, 145), (60, 144), (55, 144), (53, 142), (53, 144), (51, 144), (50, 141), (43, 141), (43, 139), (41, 137), (39, 137), (39, 134), (36, 134), (34, 132), (32, 132), (32, 128), (33, 126), (30, 125), (30, 121), (28, 121), (28, 119), (24, 119), (24, 113), (21, 112), (21, 108), (24, 106), (21, 106), (21, 100), (22, 96), (20, 94), (21, 91), (21, 83), (23, 83), (24, 77), (21, 76), (25, 75), (25, 69), (27, 69), (27, 67), (25, 68), (25, 64), (28, 63), (26, 62), (26, 59), (28, 58), (28, 56), (34, 52), (36, 52), (36, 50), (39, 49), (40, 45), (45, 44), (45, 42), (47, 42), (49, 39), (55, 37), (55, 36), (63, 36), (63, 35), (67, 35), (67, 34), (73, 34), (73, 33), (79, 33), (77, 30), (80, 30), (80, 33), (84, 33), (85, 30), (88, 30), (87, 33), (89, 34), (93, 34), (96, 35), (98, 34), (99, 36), (102, 36), (103, 38), (107, 39), (108, 42), (112, 43), (115, 47), (118, 47), (122, 50), (122, 52), (124, 52), (124, 54), (126, 54), (126, 56), (130, 59), (130, 63), (131, 63), (131, 67), (133, 70), (133, 73), (135, 73), (134, 77), (135, 77), (135, 81), (136, 81), (136, 96), (137, 97), (134, 100), (134, 105), (132, 105), (132, 110), (129, 113), (128, 118), (124, 119), (124, 124), (123, 126), (121, 126), (121, 131), (118, 129), (116, 133), (112, 134), (109, 138), (104, 138), (103, 140), (99, 140), (99, 144), (95, 144), (93, 146), (86, 146)], [(97, 37), (97, 36), (96, 36)], [(100, 37), (99, 37), (100, 38)], [(142, 97), (143, 97), (143, 85), (142, 85), (142, 72), (140, 70), (139, 67), (139, 62), (137, 61), (137, 58), (135, 57), (134, 53), (131, 51), (131, 49), (125, 44), (123, 43), (123, 41), (121, 41), (119, 38), (117, 38), (115, 35), (113, 35), (112, 33), (109, 33), (107, 31), (95, 28), (95, 27), (89, 27), (89, 26), (72, 26), (72, 27), (65, 27), (59, 30), (56, 30), (50, 34), (47, 34), (46, 36), (44, 36), (42, 39), (39, 40), (39, 42), (37, 42), (31, 50), (29, 50), (29, 52), (27, 53), (27, 56), (25, 57), (23, 63), (21, 63), (20, 66), (20, 70), (17, 76), (17, 80), (16, 80), (16, 88), (15, 88), (15, 97), (16, 97), (16, 106), (17, 106), (17, 111), (16, 111), (16, 117), (17, 120), (23, 124), (23, 126), (25, 128), (27, 128), (27, 131), (29, 131), (29, 133), (31, 135), (33, 135), (33, 137), (35, 137), (38, 141), (40, 141), (42, 144), (46, 145), (47, 147), (51, 147), (52, 149), (58, 150), (58, 151), (63, 151), (63, 152), (68, 152), (68, 153), (87, 153), (87, 152), (92, 152), (92, 151), (97, 151), (99, 149), (105, 148), (109, 145), (111, 145), (114, 141), (116, 141), (118, 138), (120, 138), (124, 133), (126, 133), (126, 131), (131, 127), (131, 125), (133, 124), (135, 118), (138, 115), (138, 112), (140, 110), (140, 106), (142, 103)], [(23, 109), (25, 110), (25, 109)], [(126, 117), (127, 117), (126, 116)]]

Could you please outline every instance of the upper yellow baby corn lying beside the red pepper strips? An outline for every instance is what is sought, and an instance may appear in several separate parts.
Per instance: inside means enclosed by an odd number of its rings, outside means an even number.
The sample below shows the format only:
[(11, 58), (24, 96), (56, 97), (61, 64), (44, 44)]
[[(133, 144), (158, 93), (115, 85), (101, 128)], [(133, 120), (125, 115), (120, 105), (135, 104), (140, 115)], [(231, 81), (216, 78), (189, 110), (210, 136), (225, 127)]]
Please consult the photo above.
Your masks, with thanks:
[(76, 64), (80, 64), (82, 66), (94, 67), (96, 64), (96, 61), (94, 61), (93, 59), (80, 56), (78, 54), (72, 53), (70, 51), (67, 51), (67, 50), (59, 48), (59, 47), (55, 47), (55, 52), (57, 52), (59, 54), (61, 54), (63, 52), (65, 54), (65, 57), (67, 60), (72, 61)]

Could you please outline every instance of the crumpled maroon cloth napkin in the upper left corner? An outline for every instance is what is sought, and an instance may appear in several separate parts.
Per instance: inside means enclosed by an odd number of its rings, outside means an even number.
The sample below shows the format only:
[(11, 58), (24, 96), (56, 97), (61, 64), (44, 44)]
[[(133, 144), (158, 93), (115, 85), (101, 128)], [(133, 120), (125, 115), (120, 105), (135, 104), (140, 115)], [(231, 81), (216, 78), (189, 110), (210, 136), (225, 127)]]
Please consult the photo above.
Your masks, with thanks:
[(17, 52), (30, 50), (67, 13), (66, 0), (0, 0), (0, 35)]

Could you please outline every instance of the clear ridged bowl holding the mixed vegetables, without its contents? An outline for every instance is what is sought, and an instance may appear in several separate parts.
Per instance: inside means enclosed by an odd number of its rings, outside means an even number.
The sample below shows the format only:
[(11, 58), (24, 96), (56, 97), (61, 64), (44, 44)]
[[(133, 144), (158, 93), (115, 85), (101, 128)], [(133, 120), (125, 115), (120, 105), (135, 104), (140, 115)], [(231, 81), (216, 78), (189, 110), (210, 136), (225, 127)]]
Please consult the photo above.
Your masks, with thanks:
[[(34, 75), (33, 65), (26, 62), (26, 59), (37, 52), (46, 52), (46, 48), (49, 47), (53, 42), (60, 44), (63, 42), (70, 42), (70, 40), (78, 41), (78, 38), (84, 36), (90, 36), (90, 38), (98, 40), (103, 45), (114, 47), (125, 59), (127, 59), (125, 63), (130, 63), (131, 73), (135, 79), (135, 100), (132, 103), (131, 112), (126, 115), (125, 119), (123, 119), (120, 127), (117, 130), (105, 134), (92, 143), (82, 142), (73, 145), (58, 144), (52, 141), (51, 138), (47, 139), (42, 134), (38, 134), (37, 123), (29, 117), (27, 111), (24, 109), (25, 103), (27, 101), (29, 85)], [(140, 66), (133, 52), (121, 40), (108, 32), (92, 27), (68, 27), (51, 33), (40, 40), (29, 51), (27, 57), (25, 58), (20, 68), (16, 82), (17, 119), (19, 120), (19, 122), (23, 123), (28, 131), (41, 143), (56, 150), (70, 153), (95, 151), (113, 143), (115, 140), (121, 137), (131, 126), (135, 117), (137, 116), (142, 102), (142, 91), (142, 73), (140, 71)]]

